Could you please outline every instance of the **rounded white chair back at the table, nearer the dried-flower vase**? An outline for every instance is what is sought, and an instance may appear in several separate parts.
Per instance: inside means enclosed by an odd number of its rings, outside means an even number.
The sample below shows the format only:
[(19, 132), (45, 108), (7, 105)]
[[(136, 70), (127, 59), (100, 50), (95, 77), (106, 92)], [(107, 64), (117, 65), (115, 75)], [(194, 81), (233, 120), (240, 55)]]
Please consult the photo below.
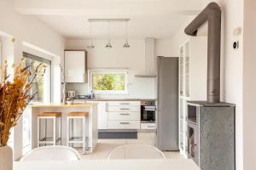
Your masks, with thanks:
[(42, 146), (29, 151), (20, 161), (79, 161), (77, 150), (67, 146)]

